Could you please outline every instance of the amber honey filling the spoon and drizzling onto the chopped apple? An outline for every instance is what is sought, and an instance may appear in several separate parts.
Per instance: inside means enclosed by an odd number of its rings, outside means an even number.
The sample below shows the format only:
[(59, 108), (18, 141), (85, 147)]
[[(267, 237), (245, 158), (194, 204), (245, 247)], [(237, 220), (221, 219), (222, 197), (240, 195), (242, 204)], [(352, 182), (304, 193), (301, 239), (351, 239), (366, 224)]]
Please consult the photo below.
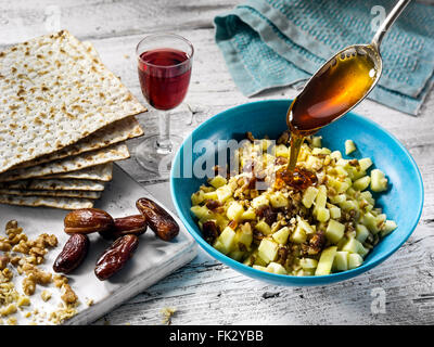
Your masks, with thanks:
[(378, 75), (375, 54), (370, 46), (345, 49), (331, 59), (292, 102), (286, 115), (291, 130), (290, 162), (278, 172), (278, 185), (285, 182), (304, 189), (316, 183), (315, 174), (296, 168), (304, 139), (346, 114), (367, 95)]

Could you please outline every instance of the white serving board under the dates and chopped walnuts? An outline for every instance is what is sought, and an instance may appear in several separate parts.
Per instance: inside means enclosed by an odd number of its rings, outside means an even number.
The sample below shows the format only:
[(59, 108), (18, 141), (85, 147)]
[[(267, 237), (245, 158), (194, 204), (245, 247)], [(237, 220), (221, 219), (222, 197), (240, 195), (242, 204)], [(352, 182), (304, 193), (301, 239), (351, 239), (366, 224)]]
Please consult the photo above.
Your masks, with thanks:
[[(107, 184), (94, 207), (106, 210), (113, 217), (138, 215), (136, 201), (140, 197), (150, 197), (166, 208), (124, 170), (114, 165), (113, 181)], [(167, 210), (170, 213), (169, 209)], [(54, 208), (0, 205), (0, 230), (1, 233), (4, 233), (7, 221), (16, 219), (18, 226), (24, 228), (24, 233), (29, 239), (35, 239), (43, 232), (55, 234), (59, 240), (58, 247), (51, 249), (46, 256), (44, 264), (39, 266), (43, 270), (53, 272), (52, 264), (68, 239), (68, 235), (63, 232), (63, 219), (66, 214), (67, 211), (65, 210)], [(65, 324), (88, 324), (93, 322), (116, 306), (190, 262), (196, 256), (194, 240), (186, 231), (180, 220), (174, 214), (171, 215), (180, 227), (178, 236), (171, 242), (164, 242), (157, 239), (153, 231), (148, 228), (148, 231), (139, 239), (139, 247), (133, 257), (124, 269), (106, 281), (98, 280), (93, 269), (97, 259), (110, 246), (111, 242), (102, 239), (98, 233), (89, 235), (91, 244), (85, 262), (72, 274), (67, 275), (69, 284), (78, 295), (80, 305), (77, 307), (78, 313), (65, 321)], [(16, 274), (16, 270), (13, 271)], [(17, 275), (14, 275), (14, 282), (17, 291), (23, 293)], [(40, 293), (43, 290), (49, 290), (53, 294), (52, 298), (47, 303), (42, 301), (40, 297)], [(89, 299), (93, 300), (93, 305), (88, 306), (86, 304)], [(28, 324), (31, 319), (26, 319), (24, 314), (27, 311), (31, 312), (35, 308), (38, 308), (40, 312), (47, 312), (47, 317), (51, 311), (58, 309), (58, 305), (61, 301), (60, 291), (53, 284), (47, 287), (37, 285), (37, 291), (30, 296), (30, 300), (31, 305), (29, 307), (25, 307), (22, 311), (15, 313), (18, 324)], [(42, 318), (36, 319), (36, 322), (39, 324), (50, 323)]]

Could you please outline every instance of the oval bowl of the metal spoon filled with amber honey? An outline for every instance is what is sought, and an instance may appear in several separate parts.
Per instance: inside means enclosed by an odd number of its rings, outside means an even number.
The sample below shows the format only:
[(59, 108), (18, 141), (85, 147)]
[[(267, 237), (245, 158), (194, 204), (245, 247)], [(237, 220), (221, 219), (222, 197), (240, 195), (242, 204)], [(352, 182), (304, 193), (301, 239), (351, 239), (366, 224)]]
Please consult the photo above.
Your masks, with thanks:
[(309, 134), (337, 120), (370, 93), (382, 70), (383, 62), (374, 46), (344, 48), (307, 81), (289, 110), (288, 125)]

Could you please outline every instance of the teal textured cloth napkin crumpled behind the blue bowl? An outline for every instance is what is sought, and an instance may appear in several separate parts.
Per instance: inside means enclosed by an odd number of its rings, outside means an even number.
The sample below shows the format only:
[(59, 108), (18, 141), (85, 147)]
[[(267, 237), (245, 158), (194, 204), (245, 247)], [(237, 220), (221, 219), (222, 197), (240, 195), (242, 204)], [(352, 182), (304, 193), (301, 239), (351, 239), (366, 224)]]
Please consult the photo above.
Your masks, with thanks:
[[(216, 42), (243, 94), (308, 79), (346, 46), (369, 43), (375, 5), (396, 0), (250, 0), (215, 18)], [(381, 46), (369, 98), (417, 115), (434, 85), (434, 7), (411, 2)]]

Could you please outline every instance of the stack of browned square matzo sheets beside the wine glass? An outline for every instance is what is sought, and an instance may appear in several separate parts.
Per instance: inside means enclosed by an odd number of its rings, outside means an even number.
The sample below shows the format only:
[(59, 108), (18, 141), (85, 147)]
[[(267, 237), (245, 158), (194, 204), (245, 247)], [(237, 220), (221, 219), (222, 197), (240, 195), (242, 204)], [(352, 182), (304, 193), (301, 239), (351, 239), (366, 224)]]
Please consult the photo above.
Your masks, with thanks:
[(146, 111), (67, 31), (0, 53), (0, 203), (93, 206)]

